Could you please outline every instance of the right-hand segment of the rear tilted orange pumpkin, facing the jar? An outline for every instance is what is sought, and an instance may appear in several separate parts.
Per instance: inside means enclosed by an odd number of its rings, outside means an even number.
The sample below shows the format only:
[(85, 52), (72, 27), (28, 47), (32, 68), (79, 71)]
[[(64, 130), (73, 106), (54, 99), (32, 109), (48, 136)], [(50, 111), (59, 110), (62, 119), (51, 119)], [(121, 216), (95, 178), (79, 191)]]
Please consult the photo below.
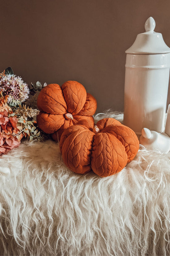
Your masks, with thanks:
[(90, 93), (87, 92), (86, 102), (82, 110), (80, 110), (80, 112), (78, 113), (78, 115), (92, 116), (95, 114), (96, 109), (97, 109), (96, 99)]

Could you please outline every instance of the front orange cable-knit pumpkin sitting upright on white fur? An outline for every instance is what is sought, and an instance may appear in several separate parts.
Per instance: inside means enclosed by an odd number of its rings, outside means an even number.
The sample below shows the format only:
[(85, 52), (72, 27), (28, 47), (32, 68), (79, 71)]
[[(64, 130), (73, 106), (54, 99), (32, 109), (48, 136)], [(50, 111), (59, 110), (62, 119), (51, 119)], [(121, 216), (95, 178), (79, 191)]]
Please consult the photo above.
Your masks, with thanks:
[(93, 170), (100, 177), (120, 172), (138, 149), (134, 131), (113, 118), (98, 121), (94, 128), (81, 120), (67, 128), (60, 140), (63, 161), (71, 171), (83, 174)]

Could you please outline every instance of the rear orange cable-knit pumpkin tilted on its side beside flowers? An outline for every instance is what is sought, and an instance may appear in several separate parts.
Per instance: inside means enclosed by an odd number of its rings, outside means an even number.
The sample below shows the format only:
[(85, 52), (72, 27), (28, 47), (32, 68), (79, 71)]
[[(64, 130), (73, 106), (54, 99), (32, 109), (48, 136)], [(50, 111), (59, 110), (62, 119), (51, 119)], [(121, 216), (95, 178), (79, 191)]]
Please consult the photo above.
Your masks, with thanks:
[(40, 109), (38, 126), (58, 141), (66, 128), (81, 119), (94, 124), (92, 115), (96, 112), (97, 102), (81, 83), (67, 81), (62, 87), (52, 83), (43, 88), (38, 96), (37, 106)]

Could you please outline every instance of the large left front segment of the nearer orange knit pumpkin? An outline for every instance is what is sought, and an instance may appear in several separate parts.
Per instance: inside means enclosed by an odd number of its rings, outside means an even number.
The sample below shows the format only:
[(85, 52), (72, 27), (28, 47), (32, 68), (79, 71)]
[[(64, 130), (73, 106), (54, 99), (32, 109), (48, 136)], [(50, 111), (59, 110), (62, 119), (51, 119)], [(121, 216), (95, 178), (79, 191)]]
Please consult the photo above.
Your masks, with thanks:
[(88, 173), (91, 170), (91, 150), (94, 133), (79, 128), (66, 138), (62, 146), (64, 163), (75, 173)]

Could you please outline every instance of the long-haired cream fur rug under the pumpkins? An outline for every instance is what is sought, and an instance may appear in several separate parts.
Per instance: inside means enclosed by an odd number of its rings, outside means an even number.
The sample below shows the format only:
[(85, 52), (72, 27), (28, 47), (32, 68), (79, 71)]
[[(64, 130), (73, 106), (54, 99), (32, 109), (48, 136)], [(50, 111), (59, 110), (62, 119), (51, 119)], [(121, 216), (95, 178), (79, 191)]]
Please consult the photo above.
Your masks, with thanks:
[(69, 171), (53, 141), (22, 143), (0, 158), (0, 253), (169, 255), (170, 154), (141, 148), (101, 178)]

